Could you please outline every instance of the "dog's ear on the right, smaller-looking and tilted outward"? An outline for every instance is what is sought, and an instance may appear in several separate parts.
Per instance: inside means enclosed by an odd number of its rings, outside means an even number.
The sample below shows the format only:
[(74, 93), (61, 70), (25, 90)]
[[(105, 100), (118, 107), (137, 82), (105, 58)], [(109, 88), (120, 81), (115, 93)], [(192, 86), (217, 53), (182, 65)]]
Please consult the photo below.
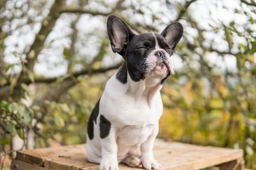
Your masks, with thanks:
[(183, 33), (183, 27), (179, 22), (173, 22), (165, 27), (161, 35), (166, 39), (168, 45), (174, 50)]

